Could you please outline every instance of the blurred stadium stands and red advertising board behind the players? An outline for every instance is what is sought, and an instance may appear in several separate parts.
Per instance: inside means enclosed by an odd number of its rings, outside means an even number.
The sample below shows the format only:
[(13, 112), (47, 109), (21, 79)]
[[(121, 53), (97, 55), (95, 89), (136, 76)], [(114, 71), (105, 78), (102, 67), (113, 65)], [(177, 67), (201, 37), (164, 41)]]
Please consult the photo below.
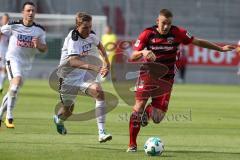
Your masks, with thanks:
[[(19, 13), (25, 0), (0, 0), (0, 12)], [(100, 37), (108, 23), (119, 41), (135, 40), (155, 22), (162, 8), (174, 13), (174, 24), (187, 28), (194, 36), (213, 42), (237, 44), (240, 39), (239, 0), (33, 0), (39, 15), (37, 22), (47, 28), (48, 54), (38, 56), (30, 78), (48, 78), (57, 66), (61, 47), (73, 14), (86, 11), (94, 16), (94, 30)], [(10, 14), (12, 17), (19, 15)], [(72, 17), (72, 18), (71, 18)], [(219, 54), (187, 46), (189, 65), (186, 82), (240, 84), (237, 76), (239, 56), (236, 52)], [(122, 63), (121, 57), (116, 63)], [(121, 75), (121, 74), (117, 74)]]

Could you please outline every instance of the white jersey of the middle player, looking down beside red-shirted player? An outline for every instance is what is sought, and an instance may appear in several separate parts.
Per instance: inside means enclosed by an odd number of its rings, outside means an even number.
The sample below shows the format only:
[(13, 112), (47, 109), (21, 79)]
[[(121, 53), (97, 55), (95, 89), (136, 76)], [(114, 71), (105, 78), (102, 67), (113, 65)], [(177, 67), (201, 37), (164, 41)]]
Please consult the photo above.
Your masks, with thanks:
[(58, 71), (58, 76), (61, 78), (76, 78), (83, 79), (86, 70), (84, 69), (73, 69), (67, 65), (68, 58), (73, 55), (79, 56), (83, 61), (87, 62), (87, 57), (90, 54), (96, 54), (96, 47), (99, 44), (99, 39), (94, 32), (91, 32), (87, 38), (81, 38), (76, 30), (69, 32), (65, 38), (62, 54), (60, 59), (60, 70)]

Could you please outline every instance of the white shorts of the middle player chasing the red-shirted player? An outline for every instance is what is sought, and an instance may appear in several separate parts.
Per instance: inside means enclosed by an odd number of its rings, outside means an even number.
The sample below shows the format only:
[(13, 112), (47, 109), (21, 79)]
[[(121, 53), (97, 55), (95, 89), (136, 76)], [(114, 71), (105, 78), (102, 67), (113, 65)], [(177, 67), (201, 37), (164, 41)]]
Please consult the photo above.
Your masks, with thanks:
[(96, 78), (88, 72), (86, 72), (84, 78), (82, 78), (82, 76), (60, 78), (59, 92), (61, 102), (65, 106), (71, 106), (75, 103), (75, 99), (79, 94), (79, 91), (87, 95), (87, 89), (94, 83), (97, 83)]

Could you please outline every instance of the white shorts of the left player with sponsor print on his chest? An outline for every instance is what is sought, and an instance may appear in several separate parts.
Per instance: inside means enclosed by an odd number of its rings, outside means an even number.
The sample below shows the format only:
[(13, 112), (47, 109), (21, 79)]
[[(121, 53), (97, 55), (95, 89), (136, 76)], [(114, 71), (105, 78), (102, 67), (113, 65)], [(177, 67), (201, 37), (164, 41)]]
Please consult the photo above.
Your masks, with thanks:
[(9, 80), (18, 76), (24, 79), (29, 73), (29, 69), (25, 69), (20, 62), (14, 59), (6, 60), (6, 69)]

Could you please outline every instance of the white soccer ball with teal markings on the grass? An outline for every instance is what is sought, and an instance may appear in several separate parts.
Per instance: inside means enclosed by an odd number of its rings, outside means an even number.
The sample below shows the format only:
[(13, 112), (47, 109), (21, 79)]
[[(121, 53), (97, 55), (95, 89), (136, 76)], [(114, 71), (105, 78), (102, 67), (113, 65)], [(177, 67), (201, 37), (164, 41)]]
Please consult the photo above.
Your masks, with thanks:
[(150, 137), (145, 142), (144, 151), (149, 156), (160, 156), (164, 151), (164, 144), (158, 137)]

